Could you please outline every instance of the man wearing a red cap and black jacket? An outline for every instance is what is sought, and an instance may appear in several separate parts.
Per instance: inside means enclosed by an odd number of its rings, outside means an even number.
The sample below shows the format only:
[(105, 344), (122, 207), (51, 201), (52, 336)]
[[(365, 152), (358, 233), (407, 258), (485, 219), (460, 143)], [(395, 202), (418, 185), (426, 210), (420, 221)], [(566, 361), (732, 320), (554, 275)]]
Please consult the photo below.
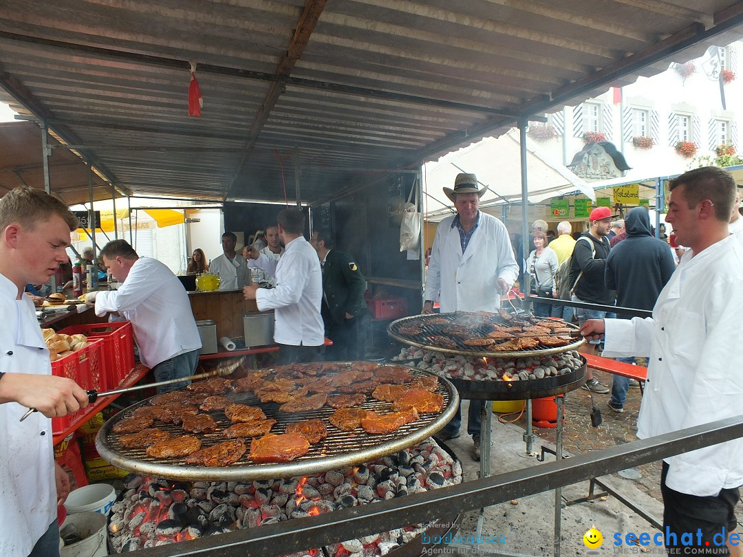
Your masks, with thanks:
[[(573, 302), (585, 302), (588, 304), (614, 305), (614, 292), (604, 284), (604, 270), (606, 269), (606, 258), (609, 256), (609, 227), (611, 226), (611, 210), (609, 207), (597, 207), (588, 215), (591, 227), (588, 232), (583, 232), (578, 238), (573, 249), (573, 260), (571, 263), (570, 276), (574, 281), (571, 290)], [(576, 308), (576, 316), (580, 325), (587, 319), (604, 319), (615, 317), (614, 313), (607, 314), (606, 311), (586, 310), (582, 307)], [(594, 354), (595, 346), (599, 341), (589, 341), (584, 345), (582, 351)], [(588, 369), (588, 380), (584, 388), (597, 394), (606, 394), (609, 388), (595, 380)]]

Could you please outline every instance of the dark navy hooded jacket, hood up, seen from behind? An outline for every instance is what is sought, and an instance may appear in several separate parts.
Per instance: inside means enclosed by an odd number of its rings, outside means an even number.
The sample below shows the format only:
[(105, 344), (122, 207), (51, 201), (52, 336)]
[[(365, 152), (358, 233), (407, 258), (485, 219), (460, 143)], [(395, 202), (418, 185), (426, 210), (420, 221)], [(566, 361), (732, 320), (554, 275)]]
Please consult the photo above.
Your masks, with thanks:
[[(676, 264), (668, 244), (653, 238), (644, 207), (631, 209), (624, 224), (627, 238), (612, 247), (606, 259), (606, 287), (617, 291), (618, 306), (652, 310)], [(632, 316), (617, 313), (617, 317)]]

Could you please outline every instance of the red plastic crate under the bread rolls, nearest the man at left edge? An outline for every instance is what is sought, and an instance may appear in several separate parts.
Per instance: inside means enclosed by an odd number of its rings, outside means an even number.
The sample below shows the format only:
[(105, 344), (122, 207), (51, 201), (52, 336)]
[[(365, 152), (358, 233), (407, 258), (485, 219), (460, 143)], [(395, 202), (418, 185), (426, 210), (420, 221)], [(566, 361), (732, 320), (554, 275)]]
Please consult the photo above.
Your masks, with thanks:
[[(88, 346), (82, 350), (51, 362), (51, 374), (57, 377), (68, 377), (85, 391), (90, 389), (104, 391), (106, 390), (106, 374), (103, 371), (102, 352), (102, 340), (88, 339)], [(65, 431), (76, 416), (77, 412), (64, 417), (52, 418), (52, 434)]]

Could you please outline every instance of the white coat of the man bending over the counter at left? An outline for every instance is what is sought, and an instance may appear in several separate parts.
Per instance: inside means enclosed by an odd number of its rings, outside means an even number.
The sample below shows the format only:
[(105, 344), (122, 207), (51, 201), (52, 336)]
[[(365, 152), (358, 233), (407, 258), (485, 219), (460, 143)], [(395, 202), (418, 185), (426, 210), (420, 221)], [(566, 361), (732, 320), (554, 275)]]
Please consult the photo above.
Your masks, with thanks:
[(118, 290), (99, 292), (95, 313), (118, 311), (132, 322), (140, 360), (148, 368), (201, 348), (188, 294), (157, 259), (140, 257)]

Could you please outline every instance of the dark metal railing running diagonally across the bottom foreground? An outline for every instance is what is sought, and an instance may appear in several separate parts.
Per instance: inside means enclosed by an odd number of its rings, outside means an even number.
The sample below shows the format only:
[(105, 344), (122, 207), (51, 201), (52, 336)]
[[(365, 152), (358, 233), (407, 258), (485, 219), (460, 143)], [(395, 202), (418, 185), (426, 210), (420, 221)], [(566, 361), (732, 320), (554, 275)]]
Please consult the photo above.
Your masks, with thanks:
[(743, 415), (457, 486), (137, 552), (137, 557), (277, 557), (572, 485), (743, 437)]

